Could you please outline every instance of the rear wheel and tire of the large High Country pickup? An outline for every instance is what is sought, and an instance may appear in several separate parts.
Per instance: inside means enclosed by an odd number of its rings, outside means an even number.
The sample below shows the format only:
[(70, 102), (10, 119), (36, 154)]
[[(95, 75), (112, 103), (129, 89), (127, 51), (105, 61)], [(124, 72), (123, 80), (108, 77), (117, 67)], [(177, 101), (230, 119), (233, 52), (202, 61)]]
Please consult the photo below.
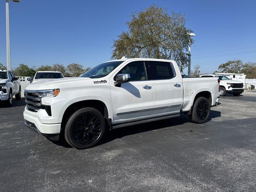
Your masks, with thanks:
[(194, 103), (191, 120), (194, 123), (204, 123), (210, 115), (211, 106), (205, 97), (199, 97)]

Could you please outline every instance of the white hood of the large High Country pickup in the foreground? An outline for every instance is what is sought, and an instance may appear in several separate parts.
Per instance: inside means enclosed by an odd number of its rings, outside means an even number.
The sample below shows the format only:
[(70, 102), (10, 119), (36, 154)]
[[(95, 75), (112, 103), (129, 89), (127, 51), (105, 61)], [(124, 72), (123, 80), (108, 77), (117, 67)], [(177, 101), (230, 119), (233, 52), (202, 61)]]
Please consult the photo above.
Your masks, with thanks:
[(72, 78), (61, 78), (61, 79), (51, 79), (33, 82), (26, 87), (26, 90), (48, 90), (54, 88), (61, 88), (62, 85), (72, 83), (74, 85), (79, 85), (85, 80), (92, 80), (91, 78), (86, 77), (72, 77)]

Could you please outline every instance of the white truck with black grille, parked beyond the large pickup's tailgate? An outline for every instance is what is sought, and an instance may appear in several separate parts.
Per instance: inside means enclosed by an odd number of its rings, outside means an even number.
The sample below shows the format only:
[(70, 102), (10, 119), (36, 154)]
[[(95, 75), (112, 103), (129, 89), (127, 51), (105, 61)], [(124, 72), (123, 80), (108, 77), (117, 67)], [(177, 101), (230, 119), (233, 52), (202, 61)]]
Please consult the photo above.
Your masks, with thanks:
[(218, 77), (220, 80), (220, 96), (225, 96), (227, 93), (239, 96), (244, 92), (244, 84), (242, 81), (231, 80), (224, 75), (205, 74), (200, 75), (200, 77)]

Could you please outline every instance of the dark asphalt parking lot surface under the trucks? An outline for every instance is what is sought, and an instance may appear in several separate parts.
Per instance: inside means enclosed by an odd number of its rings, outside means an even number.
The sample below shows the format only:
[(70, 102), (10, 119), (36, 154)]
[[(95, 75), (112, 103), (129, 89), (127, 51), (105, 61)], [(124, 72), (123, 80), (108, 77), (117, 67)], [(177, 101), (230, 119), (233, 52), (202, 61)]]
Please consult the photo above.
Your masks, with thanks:
[(183, 115), (76, 150), (28, 130), (14, 99), (0, 107), (0, 191), (255, 191), (256, 92), (220, 103), (204, 124)]

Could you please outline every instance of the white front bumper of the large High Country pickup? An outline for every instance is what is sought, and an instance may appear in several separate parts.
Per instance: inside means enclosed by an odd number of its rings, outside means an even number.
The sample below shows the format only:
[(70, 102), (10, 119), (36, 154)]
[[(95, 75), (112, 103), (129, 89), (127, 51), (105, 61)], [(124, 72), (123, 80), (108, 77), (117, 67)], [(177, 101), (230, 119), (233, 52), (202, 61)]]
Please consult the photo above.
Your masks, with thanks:
[[(27, 110), (24, 110), (23, 112), (24, 119), (29, 122), (29, 124), (34, 124), (34, 127), (36, 130), (38, 130), (38, 133), (40, 134), (60, 134), (60, 127), (61, 123), (56, 124), (45, 124), (41, 123), (39, 116), (33, 116), (27, 112)], [(26, 124), (25, 124), (26, 125)], [(26, 126), (28, 126), (26, 125)], [(33, 127), (33, 126), (32, 126)]]

